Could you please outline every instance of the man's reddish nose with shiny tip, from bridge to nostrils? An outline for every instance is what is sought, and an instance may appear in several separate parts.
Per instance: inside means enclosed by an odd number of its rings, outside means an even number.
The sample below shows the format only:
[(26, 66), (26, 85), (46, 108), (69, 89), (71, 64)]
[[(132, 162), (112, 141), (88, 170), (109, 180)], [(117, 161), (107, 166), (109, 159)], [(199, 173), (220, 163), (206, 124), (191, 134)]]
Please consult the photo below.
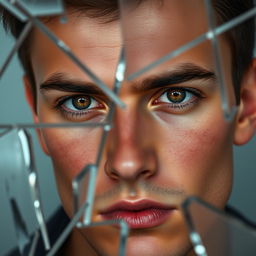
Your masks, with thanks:
[(157, 157), (145, 117), (140, 111), (118, 109), (107, 141), (106, 174), (131, 182), (151, 178), (156, 171)]

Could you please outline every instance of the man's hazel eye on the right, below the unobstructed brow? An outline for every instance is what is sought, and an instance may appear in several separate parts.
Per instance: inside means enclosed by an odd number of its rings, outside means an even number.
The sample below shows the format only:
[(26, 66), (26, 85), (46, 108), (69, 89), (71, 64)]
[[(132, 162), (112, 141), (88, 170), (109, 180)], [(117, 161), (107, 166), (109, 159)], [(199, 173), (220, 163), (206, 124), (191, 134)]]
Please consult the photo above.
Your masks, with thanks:
[(202, 93), (194, 88), (169, 88), (153, 101), (153, 105), (180, 113), (190, 110), (202, 98)]

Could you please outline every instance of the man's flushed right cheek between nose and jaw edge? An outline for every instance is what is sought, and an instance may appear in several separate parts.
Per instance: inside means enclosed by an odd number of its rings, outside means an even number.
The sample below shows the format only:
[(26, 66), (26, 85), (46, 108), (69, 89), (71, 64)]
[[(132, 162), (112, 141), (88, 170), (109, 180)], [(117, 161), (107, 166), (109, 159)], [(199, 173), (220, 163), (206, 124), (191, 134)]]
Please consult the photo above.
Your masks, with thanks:
[(159, 184), (168, 180), (189, 195), (222, 206), (232, 181), (233, 128), (223, 120), (222, 113), (205, 117), (199, 122), (176, 120), (171, 129), (161, 126)]

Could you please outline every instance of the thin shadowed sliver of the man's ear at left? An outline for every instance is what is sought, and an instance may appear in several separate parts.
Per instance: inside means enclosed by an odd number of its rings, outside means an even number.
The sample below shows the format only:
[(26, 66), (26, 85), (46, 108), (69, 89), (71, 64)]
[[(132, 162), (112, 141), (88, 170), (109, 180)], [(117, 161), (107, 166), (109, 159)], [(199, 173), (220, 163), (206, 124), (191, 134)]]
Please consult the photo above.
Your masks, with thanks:
[[(24, 90), (25, 90), (26, 99), (27, 99), (27, 102), (28, 102), (29, 107), (31, 109), (34, 123), (38, 124), (39, 123), (39, 118), (38, 118), (38, 114), (37, 114), (37, 106), (36, 106), (37, 103), (36, 103), (36, 100), (35, 100), (35, 97), (34, 97), (34, 94), (33, 94), (34, 88), (32, 88), (32, 85), (31, 85), (27, 75), (24, 75), (23, 83), (24, 83)], [(37, 136), (38, 136), (40, 145), (42, 147), (42, 150), (44, 151), (44, 153), (46, 155), (49, 155), (49, 150), (48, 150), (47, 145), (45, 143), (45, 139), (44, 139), (42, 130), (41, 129), (36, 129), (36, 132), (37, 132)]]

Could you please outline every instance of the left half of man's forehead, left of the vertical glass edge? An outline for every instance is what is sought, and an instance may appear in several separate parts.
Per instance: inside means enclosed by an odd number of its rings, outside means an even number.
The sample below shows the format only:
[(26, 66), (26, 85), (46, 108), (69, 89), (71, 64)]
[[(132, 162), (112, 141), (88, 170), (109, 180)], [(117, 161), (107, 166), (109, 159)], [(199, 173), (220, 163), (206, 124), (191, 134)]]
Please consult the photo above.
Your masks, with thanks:
[[(104, 71), (101, 67), (112, 67), (116, 63), (121, 46), (120, 27), (117, 23), (105, 25), (96, 19), (68, 14), (67, 24), (61, 24), (58, 19), (54, 19), (46, 25), (84, 64), (94, 72), (97, 70), (98, 76)], [(84, 76), (84, 73), (38, 29), (32, 34), (30, 56), (37, 84), (54, 72), (72, 71), (76, 77)]]

